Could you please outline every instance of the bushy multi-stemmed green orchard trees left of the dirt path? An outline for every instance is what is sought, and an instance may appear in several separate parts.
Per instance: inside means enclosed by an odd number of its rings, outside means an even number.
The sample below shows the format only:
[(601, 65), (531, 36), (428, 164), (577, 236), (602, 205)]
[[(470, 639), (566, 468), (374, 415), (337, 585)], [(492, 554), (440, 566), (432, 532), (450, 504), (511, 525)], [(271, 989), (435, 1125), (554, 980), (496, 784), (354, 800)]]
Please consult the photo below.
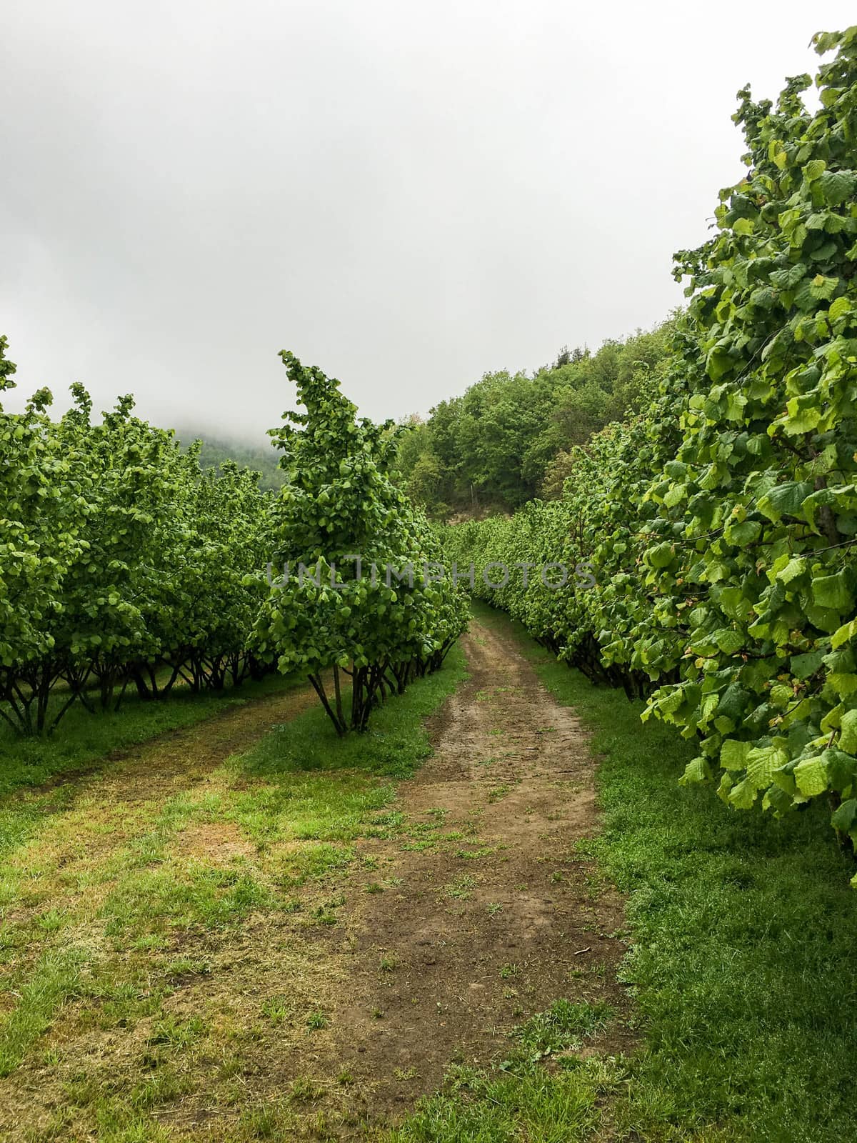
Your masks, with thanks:
[[(15, 385), (7, 345), (0, 394)], [(442, 663), (466, 617), (464, 596), (442, 583), (267, 582), (266, 563), (293, 555), (318, 565), (360, 552), (384, 565), (438, 554), (389, 475), (400, 430), (358, 421), (338, 382), (283, 360), (307, 411), (271, 433), (283, 453), (278, 495), (233, 461), (201, 467), (200, 442), (183, 449), (136, 417), (128, 395), (101, 421), (79, 384), (58, 419), (47, 389), (23, 413), (0, 405), (0, 720), (49, 733), (72, 704), (117, 709), (128, 687), (162, 700), (279, 668), (309, 674), (344, 733)]]

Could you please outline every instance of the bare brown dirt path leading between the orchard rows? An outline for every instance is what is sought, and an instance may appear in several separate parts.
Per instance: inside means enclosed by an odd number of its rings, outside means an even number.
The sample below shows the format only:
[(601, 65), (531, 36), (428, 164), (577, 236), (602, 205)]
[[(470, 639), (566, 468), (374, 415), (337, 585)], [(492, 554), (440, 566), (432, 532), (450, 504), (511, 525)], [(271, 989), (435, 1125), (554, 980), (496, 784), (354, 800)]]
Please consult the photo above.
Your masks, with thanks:
[[(391, 887), (359, 898), (338, 953), (334, 1055), (371, 1119), (399, 1118), (450, 1062), (503, 1058), (560, 997), (625, 1008), (622, 901), (576, 848), (598, 830), (586, 735), (511, 636), (473, 622), (465, 650), (470, 681), (401, 788), (409, 840), (361, 846)], [(614, 1022), (590, 1050), (627, 1046)]]

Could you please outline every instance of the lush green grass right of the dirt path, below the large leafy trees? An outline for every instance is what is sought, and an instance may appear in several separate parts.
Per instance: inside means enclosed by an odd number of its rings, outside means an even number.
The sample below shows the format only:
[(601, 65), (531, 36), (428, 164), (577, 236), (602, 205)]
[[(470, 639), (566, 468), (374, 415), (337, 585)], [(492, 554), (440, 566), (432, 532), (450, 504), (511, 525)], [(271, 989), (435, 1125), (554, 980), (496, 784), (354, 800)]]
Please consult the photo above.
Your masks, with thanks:
[(680, 788), (690, 749), (673, 730), (642, 725), (639, 705), (592, 687), (505, 616), (479, 617), (514, 628), (545, 686), (593, 732), (603, 832), (590, 852), (628, 895), (624, 980), (642, 1046), (631, 1060), (456, 1074), (394, 1138), (852, 1137), (857, 896), (823, 808), (776, 822)]

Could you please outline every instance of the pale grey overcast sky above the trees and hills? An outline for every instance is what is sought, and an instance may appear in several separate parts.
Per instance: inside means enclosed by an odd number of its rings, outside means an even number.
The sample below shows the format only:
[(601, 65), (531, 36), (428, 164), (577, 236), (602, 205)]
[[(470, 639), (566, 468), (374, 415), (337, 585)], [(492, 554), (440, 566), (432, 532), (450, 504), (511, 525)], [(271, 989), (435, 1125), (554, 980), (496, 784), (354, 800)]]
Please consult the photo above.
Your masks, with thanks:
[[(815, 13), (814, 13), (815, 7)], [(852, 2), (6, 0), (0, 333), (19, 389), (261, 437), (291, 349), (369, 416), (681, 299), (745, 82)]]

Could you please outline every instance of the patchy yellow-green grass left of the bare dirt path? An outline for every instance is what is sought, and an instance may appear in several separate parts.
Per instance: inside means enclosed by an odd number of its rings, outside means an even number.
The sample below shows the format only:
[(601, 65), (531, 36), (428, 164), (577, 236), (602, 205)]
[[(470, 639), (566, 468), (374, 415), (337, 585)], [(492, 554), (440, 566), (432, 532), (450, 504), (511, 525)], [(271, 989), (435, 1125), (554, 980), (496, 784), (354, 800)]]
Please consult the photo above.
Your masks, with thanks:
[(455, 648), (342, 742), (313, 706), (215, 768), (176, 781), (170, 759), (159, 784), (153, 756), (35, 802), (0, 862), (0, 1134), (293, 1137), (305, 1085), (283, 1077), (339, 984), (321, 937), (350, 893), (383, 888), (354, 842), (405, 831), (395, 783), (465, 674)]

